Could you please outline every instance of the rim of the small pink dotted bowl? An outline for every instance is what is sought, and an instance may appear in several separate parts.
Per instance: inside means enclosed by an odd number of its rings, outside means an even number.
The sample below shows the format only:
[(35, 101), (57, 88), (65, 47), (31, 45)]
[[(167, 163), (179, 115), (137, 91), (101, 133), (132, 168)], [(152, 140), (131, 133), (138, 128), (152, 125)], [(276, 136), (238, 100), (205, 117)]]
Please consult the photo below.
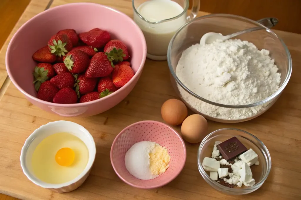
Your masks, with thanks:
[[(163, 181), (161, 182), (160, 184), (157, 184), (155, 186), (152, 186), (152, 187), (145, 187), (143, 185), (135, 185), (135, 184), (132, 184), (132, 183), (129, 183), (126, 179), (124, 179), (117, 171), (116, 171), (116, 167), (114, 165), (114, 162), (113, 162), (113, 149), (114, 149), (114, 146), (117, 142), (117, 139), (127, 130), (129, 129), (130, 127), (133, 127), (137, 124), (141, 124), (141, 123), (154, 123), (154, 124), (160, 124), (160, 125), (163, 125), (163, 126), (166, 126), (167, 128), (169, 128), (170, 130), (172, 130), (173, 133), (175, 133), (178, 138), (180, 139), (181, 143), (182, 143), (182, 148), (184, 149), (184, 161), (182, 163), (182, 166), (180, 167), (180, 170), (173, 174), (173, 177), (167, 181)], [(168, 183), (170, 183), (171, 181), (173, 181), (183, 170), (184, 166), (185, 166), (185, 163), (186, 163), (186, 157), (187, 157), (187, 152), (186, 152), (186, 146), (185, 146), (185, 142), (184, 140), (182, 139), (182, 137), (180, 136), (180, 134), (175, 130), (173, 129), (172, 127), (170, 127), (169, 125), (167, 124), (164, 124), (163, 122), (160, 122), (160, 121), (154, 121), (154, 120), (145, 120), (145, 121), (138, 121), (138, 122), (135, 122), (133, 124), (130, 124), (129, 126), (125, 127), (122, 131), (120, 131), (118, 133), (118, 135), (115, 137), (113, 143), (112, 143), (112, 146), (111, 146), (111, 150), (110, 150), (110, 160), (111, 160), (111, 164), (112, 164), (112, 167), (115, 171), (115, 173), (117, 174), (117, 176), (123, 181), (125, 182), (126, 184), (129, 184), (130, 186), (132, 187), (136, 187), (136, 188), (140, 188), (140, 189), (154, 189), (154, 188), (158, 188), (158, 187), (162, 187)], [(134, 176), (133, 176), (134, 177)]]

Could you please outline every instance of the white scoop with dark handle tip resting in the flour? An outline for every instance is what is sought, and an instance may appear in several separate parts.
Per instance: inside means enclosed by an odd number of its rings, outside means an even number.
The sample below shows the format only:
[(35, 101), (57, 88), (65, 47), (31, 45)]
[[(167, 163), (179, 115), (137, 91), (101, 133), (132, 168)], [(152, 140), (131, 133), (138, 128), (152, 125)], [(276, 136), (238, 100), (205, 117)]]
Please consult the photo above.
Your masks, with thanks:
[(225, 40), (231, 39), (232, 37), (236, 37), (240, 34), (249, 33), (249, 32), (257, 31), (257, 30), (262, 30), (262, 29), (265, 29), (265, 28), (272, 28), (278, 23), (278, 19), (276, 19), (276, 18), (263, 18), (263, 19), (258, 20), (257, 22), (264, 25), (265, 27), (264, 26), (257, 26), (257, 27), (254, 27), (254, 28), (248, 28), (248, 29), (245, 29), (243, 31), (239, 31), (239, 32), (232, 33), (232, 34), (229, 34), (229, 35), (222, 35), (221, 33), (209, 32), (209, 33), (206, 33), (206, 34), (203, 35), (203, 37), (200, 40), (200, 45), (211, 44), (216, 40), (225, 41)]

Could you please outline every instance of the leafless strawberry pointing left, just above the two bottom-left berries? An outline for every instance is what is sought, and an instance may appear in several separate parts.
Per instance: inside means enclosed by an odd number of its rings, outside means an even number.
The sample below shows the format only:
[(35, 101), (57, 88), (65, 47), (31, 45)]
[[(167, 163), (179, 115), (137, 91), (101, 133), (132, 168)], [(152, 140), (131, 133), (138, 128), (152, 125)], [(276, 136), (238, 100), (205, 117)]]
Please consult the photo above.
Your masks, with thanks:
[(52, 79), (50, 79), (52, 85), (58, 87), (59, 89), (63, 88), (73, 88), (74, 87), (74, 77), (69, 72), (64, 72), (61, 74), (57, 74)]

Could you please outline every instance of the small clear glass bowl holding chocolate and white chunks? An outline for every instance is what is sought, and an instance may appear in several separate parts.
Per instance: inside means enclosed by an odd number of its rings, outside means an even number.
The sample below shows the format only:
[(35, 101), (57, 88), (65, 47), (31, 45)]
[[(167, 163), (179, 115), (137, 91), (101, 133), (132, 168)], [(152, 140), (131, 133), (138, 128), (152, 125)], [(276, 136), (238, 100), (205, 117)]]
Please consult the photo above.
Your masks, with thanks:
[[(213, 181), (209, 177), (209, 172), (206, 172), (202, 166), (204, 157), (211, 157), (213, 146), (216, 141), (224, 142), (234, 136), (237, 137), (240, 142), (242, 142), (247, 147), (247, 149), (252, 148), (256, 152), (256, 154), (258, 154), (259, 165), (251, 166), (253, 178), (255, 179), (256, 183), (252, 187), (245, 187), (243, 185), (242, 187), (229, 188), (223, 186), (216, 181)], [(210, 133), (201, 142), (197, 155), (198, 169), (205, 181), (214, 189), (228, 195), (243, 195), (254, 192), (262, 186), (262, 184), (268, 177), (272, 166), (271, 156), (266, 146), (251, 133), (235, 128), (223, 128)]]

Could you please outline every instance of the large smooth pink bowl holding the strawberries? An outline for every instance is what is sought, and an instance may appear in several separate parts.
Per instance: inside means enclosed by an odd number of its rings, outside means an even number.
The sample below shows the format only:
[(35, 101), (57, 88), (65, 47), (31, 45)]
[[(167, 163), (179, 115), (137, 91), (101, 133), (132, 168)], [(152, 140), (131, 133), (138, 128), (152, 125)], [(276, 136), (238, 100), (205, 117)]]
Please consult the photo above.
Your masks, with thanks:
[[(74, 14), (76, 13), (76, 14)], [(33, 53), (46, 46), (57, 31), (73, 28), (77, 33), (101, 28), (112, 38), (122, 40), (129, 48), (135, 76), (118, 91), (87, 103), (57, 104), (36, 98), (33, 86)], [(126, 14), (93, 3), (72, 3), (46, 10), (27, 21), (14, 34), (6, 53), (6, 69), (11, 81), (27, 100), (39, 108), (61, 116), (91, 116), (104, 112), (121, 102), (136, 85), (146, 59), (146, 42), (138, 25)]]

